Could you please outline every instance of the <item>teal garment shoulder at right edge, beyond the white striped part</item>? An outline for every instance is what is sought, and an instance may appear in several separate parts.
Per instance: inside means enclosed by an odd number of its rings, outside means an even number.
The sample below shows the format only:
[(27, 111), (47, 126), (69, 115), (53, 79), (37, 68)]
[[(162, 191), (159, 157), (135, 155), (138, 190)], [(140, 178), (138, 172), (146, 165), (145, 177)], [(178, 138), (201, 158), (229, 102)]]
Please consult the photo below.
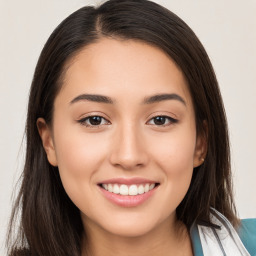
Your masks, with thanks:
[(256, 255), (256, 219), (243, 219), (237, 233), (251, 255)]

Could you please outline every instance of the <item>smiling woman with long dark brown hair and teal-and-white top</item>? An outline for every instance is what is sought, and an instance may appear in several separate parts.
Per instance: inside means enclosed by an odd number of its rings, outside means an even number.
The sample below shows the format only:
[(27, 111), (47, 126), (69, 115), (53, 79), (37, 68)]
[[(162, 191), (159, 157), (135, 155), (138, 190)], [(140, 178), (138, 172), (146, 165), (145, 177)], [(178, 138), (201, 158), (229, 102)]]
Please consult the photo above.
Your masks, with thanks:
[(256, 253), (213, 68), (163, 7), (110, 0), (65, 19), (39, 58), (26, 135), (10, 255)]

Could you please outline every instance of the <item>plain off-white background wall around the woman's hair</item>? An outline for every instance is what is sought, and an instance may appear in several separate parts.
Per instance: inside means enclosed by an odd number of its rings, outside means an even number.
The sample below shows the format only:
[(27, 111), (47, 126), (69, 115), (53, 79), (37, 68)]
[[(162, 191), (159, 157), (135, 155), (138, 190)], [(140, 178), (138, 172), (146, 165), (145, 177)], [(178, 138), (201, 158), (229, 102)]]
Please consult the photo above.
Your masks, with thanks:
[[(11, 195), (22, 170), (22, 138), (33, 71), (53, 29), (78, 8), (102, 1), (0, 0), (0, 255)], [(156, 1), (198, 35), (215, 68), (230, 127), (235, 199), (256, 217), (256, 1)]]

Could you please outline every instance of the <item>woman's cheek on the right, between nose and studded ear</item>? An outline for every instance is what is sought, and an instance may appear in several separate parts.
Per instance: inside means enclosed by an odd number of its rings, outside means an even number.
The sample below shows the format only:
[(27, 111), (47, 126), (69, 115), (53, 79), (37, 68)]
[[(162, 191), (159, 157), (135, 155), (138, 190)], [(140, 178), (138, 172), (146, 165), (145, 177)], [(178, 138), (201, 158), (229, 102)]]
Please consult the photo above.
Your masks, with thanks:
[(172, 202), (170, 207), (176, 208), (189, 188), (193, 174), (195, 144), (195, 129), (179, 130), (154, 142), (152, 158), (164, 173), (163, 185), (168, 191), (162, 200)]

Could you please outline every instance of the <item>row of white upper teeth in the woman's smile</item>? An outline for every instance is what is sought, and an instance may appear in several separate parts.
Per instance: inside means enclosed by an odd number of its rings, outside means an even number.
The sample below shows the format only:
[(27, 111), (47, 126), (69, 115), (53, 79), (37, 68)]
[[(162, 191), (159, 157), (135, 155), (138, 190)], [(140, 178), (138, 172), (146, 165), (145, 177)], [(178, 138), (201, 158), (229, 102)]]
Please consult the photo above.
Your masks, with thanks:
[(147, 193), (148, 191), (152, 190), (156, 186), (155, 183), (153, 184), (132, 184), (130, 186), (125, 185), (125, 184), (102, 184), (102, 187), (114, 194), (120, 194), (123, 196), (130, 195), (130, 196), (136, 196), (136, 195), (141, 195), (144, 193)]

